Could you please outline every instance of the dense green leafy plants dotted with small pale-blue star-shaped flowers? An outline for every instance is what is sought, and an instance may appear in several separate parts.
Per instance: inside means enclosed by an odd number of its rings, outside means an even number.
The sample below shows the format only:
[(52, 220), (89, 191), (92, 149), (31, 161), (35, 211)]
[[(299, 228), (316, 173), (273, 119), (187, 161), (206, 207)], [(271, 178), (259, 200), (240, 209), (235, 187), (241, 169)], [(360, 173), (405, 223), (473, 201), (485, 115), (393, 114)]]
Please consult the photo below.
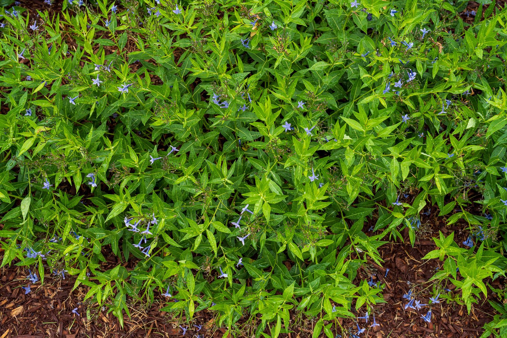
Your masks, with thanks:
[[(506, 12), (463, 20), (466, 4), (9, 4), (2, 266), (75, 276), (120, 321), (128, 296), (187, 321), (209, 308), (231, 333), (260, 314), (257, 337), (292, 310), (333, 337), (384, 302), (358, 269), (431, 213), (469, 238), (434, 239), (429, 307), (503, 297), (487, 284), (506, 266)], [(493, 305), (485, 336), (507, 327)]]

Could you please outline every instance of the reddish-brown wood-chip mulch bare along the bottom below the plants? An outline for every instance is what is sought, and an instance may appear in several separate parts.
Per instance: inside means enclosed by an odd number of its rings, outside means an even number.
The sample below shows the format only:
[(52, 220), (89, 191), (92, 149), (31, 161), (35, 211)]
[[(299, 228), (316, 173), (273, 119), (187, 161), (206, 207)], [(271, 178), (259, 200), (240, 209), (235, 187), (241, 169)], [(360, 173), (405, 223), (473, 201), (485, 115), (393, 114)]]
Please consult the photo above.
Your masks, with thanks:
[[(442, 217), (440, 219), (442, 220)], [(356, 284), (361, 279), (368, 278), (370, 280), (371, 276), (375, 274), (373, 282), (385, 284), (383, 295), (387, 302), (374, 307), (373, 314), (380, 326), (369, 327), (371, 317), (368, 324), (364, 320), (359, 320), (361, 327), (367, 328), (360, 335), (361, 337), (479, 337), (483, 332), (484, 323), (492, 319), (495, 311), (484, 299), (481, 303), (475, 304), (468, 314), (465, 306), (460, 306), (456, 302), (447, 302), (441, 297), (442, 302), (432, 307), (431, 323), (426, 323), (421, 319), (421, 315), (426, 314), (428, 307), (423, 307), (420, 311), (404, 309), (407, 302), (402, 296), (410, 288), (413, 288), (414, 293), (417, 293), (416, 298), (420, 299), (421, 303), (428, 303), (434, 286), (428, 280), (433, 276), (437, 267), (442, 267), (442, 262), (438, 259), (421, 260), (427, 252), (436, 249), (433, 241), (430, 240), (431, 236), (438, 236), (440, 230), (445, 234), (455, 231), (458, 243), (466, 238), (466, 234), (460, 232), (460, 229), (464, 229), (460, 224), (446, 228), (444, 223), (437, 224), (436, 220), (436, 217), (430, 219), (430, 222), (426, 224), (425, 234), (420, 235), (414, 247), (408, 242), (408, 234), (405, 234), (405, 244), (390, 243), (382, 246), (379, 252), (385, 261), (384, 268), (370, 262), (359, 270), (355, 280)], [(365, 231), (369, 227), (369, 225), (365, 226)], [(2, 252), (0, 252), (1, 255)], [(103, 270), (112, 269), (119, 263), (113, 255), (107, 260), (107, 264), (103, 265)], [(135, 262), (129, 261), (128, 265), (131, 264), (135, 264)], [(389, 268), (387, 277), (384, 277), (385, 268)], [(33, 284), (32, 291), (25, 295), (21, 287), (27, 284), (27, 271), (15, 266), (4, 267), (0, 271), (0, 276), (2, 276), (0, 277), (0, 338), (182, 336), (182, 330), (178, 328), (178, 325), (185, 322), (185, 319), (175, 318), (172, 314), (160, 311), (164, 307), (165, 297), (157, 295), (158, 291), (155, 291), (156, 303), (149, 309), (140, 302), (130, 303), (129, 311), (132, 318), (125, 318), (122, 329), (118, 320), (112, 314), (107, 314), (105, 308), (99, 309), (91, 304), (82, 303), (88, 290), (86, 286), (79, 286), (72, 291), (74, 278), (68, 277), (63, 280), (61, 277), (51, 276), (47, 271), (46, 273), (44, 285), (41, 286), (40, 281)], [(489, 282), (496, 288), (502, 288), (505, 281)], [(442, 287), (451, 289), (446, 294), (450, 296), (454, 294), (452, 285)], [(495, 300), (496, 295), (492, 293), (488, 295)], [(71, 312), (74, 308), (78, 308), (80, 316)], [(310, 337), (316, 320), (301, 318), (297, 312), (293, 312), (292, 315), (291, 330), (294, 332), (291, 334), (281, 333), (280, 336)], [(363, 315), (363, 313), (360, 314), (360, 316)], [(196, 334), (204, 334), (205, 337), (224, 336), (226, 328), (216, 327), (214, 325), (215, 317), (214, 311), (204, 310), (196, 313), (191, 325), (202, 325), (202, 329), (198, 332), (192, 326), (194, 331), (189, 328), (186, 336), (191, 337)], [(244, 323), (246, 318), (245, 316), (239, 322)], [(238, 336), (250, 337), (259, 323), (260, 320), (258, 323), (240, 324), (237, 331)], [(340, 326), (343, 327), (343, 330), (340, 329)], [(354, 333), (357, 331), (353, 320), (338, 319), (332, 330), (335, 334), (340, 333), (346, 337), (348, 328), (353, 328), (352, 332)], [(323, 333), (321, 336), (324, 336)]]

